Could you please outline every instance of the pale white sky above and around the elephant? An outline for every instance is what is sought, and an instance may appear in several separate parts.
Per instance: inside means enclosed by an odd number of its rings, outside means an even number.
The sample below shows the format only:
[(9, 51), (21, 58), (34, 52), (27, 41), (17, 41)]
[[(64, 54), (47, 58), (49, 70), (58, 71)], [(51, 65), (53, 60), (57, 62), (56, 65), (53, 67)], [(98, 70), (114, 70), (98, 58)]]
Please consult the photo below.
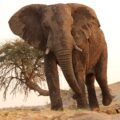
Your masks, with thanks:
[(21, 7), (31, 4), (81, 3), (92, 7), (101, 23), (108, 44), (108, 81), (120, 81), (120, 1), (119, 0), (0, 0), (0, 43), (15, 38), (8, 20)]

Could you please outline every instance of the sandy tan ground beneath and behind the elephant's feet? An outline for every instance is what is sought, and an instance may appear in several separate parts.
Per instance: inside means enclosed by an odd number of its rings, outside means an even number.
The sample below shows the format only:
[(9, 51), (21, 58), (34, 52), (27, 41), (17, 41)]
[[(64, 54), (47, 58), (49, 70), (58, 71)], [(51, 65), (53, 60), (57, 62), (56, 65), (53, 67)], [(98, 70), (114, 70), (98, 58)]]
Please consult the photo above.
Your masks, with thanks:
[(100, 104), (99, 112), (76, 109), (72, 94), (62, 91), (64, 111), (51, 111), (49, 105), (44, 107), (8, 108), (0, 110), (0, 120), (120, 120), (120, 82), (110, 85), (113, 102), (106, 107), (101, 104), (101, 92), (96, 88)]

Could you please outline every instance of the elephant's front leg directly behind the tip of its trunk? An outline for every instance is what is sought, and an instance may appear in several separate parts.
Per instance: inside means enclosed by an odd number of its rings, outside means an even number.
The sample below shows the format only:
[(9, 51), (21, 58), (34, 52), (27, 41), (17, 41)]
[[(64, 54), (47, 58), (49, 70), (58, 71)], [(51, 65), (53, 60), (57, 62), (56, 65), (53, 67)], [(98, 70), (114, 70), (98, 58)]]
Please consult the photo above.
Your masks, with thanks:
[(74, 73), (78, 82), (78, 85), (80, 86), (82, 90), (82, 94), (78, 96), (76, 93), (73, 96), (73, 98), (77, 102), (78, 108), (87, 108), (87, 97), (85, 93), (85, 66), (80, 60), (80, 55), (78, 52), (74, 52), (73, 54), (73, 66), (74, 66)]

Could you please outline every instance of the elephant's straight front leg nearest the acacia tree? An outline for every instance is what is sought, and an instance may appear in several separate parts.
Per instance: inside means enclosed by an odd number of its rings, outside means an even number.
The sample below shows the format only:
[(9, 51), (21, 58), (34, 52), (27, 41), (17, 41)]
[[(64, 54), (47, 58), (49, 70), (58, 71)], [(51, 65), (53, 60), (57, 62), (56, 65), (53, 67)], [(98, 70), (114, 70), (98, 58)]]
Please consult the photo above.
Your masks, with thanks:
[(51, 109), (63, 110), (62, 99), (60, 96), (57, 62), (55, 56), (51, 53), (45, 56), (45, 75), (49, 88)]

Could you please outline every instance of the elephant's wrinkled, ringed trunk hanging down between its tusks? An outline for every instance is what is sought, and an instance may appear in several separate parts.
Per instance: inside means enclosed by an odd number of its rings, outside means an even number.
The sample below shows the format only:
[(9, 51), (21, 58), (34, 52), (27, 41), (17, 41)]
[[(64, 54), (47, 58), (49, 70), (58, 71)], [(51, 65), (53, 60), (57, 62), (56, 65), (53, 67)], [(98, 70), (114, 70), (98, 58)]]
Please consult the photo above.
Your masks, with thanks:
[(69, 86), (72, 88), (72, 90), (76, 94), (81, 95), (81, 88), (77, 83), (74, 70), (73, 70), (72, 51), (59, 50), (56, 52), (56, 57)]

